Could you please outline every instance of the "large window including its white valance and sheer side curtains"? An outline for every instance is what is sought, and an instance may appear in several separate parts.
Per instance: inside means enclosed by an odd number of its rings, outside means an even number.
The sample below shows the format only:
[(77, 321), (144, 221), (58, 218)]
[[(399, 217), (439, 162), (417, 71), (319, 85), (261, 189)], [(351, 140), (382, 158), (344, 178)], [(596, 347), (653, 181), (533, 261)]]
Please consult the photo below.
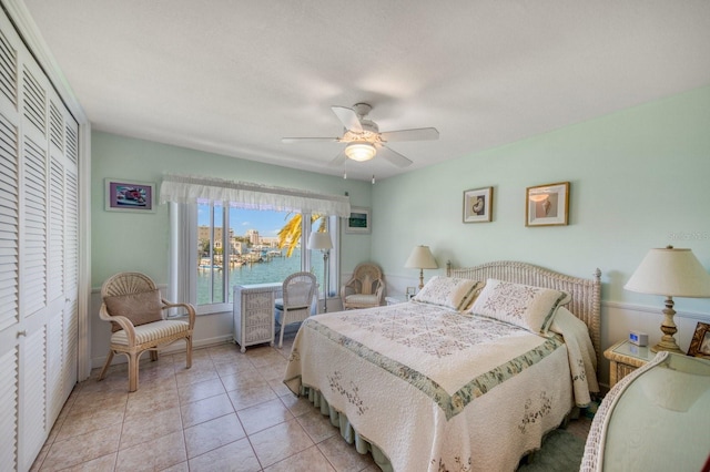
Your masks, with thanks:
[[(199, 314), (231, 310), (232, 288), (236, 284), (264, 283), (266, 279), (283, 281), (284, 271), (277, 270), (264, 269), (268, 277), (256, 277), (256, 270), (246, 273), (254, 278), (243, 277), (242, 267), (245, 261), (253, 268), (254, 264), (270, 264), (270, 257), (273, 263), (274, 258), (286, 256), (286, 260), (293, 264), (287, 266), (288, 273), (311, 270), (313, 267), (316, 275), (320, 275), (324, 294), (332, 295), (337, 290), (334, 289), (338, 286), (339, 271), (337, 218), (349, 215), (347, 195), (318, 194), (220, 178), (166, 175), (160, 186), (160, 201), (170, 203), (169, 297), (196, 305)], [(296, 258), (290, 259), (288, 253), (283, 250), (278, 256), (276, 250), (283, 247), (272, 249), (271, 243), (257, 234), (258, 228), (248, 228), (256, 232), (243, 232), (244, 228), (240, 226), (240, 223), (248, 226), (250, 217), (264, 217), (268, 214), (283, 217), (281, 228), (291, 225), (291, 257), (296, 255)], [(317, 215), (328, 216), (321, 218)], [(311, 264), (313, 252), (305, 249), (313, 224), (318, 219), (323, 228), (329, 229), (334, 246), (327, 259), (328, 287), (323, 284), (323, 271)], [(275, 229), (271, 228), (266, 233)], [(283, 246), (283, 238), (281, 243)], [(257, 257), (254, 255), (255, 246), (258, 246), (258, 259), (262, 260), (245, 259), (246, 252), (248, 257)], [(199, 270), (205, 273), (201, 275)]]

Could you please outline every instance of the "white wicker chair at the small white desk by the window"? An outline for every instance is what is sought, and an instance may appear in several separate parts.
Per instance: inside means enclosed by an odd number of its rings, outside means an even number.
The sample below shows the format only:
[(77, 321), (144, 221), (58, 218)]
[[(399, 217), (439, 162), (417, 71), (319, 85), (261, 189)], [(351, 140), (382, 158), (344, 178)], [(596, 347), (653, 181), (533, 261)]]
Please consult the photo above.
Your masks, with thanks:
[(284, 280), (283, 299), (276, 300), (276, 316), (281, 322), (281, 334), (278, 335), (278, 348), (284, 345), (284, 331), (287, 325), (300, 322), (311, 316), (316, 278), (311, 273), (291, 274)]

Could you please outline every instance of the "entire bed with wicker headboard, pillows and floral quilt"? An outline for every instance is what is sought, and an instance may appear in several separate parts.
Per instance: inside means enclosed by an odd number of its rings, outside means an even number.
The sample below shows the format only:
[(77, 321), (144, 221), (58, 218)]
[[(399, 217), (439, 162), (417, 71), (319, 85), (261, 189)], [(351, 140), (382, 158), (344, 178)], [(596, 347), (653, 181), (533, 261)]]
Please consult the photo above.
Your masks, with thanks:
[(599, 304), (598, 270), (447, 267), (413, 301), (304, 321), (284, 383), (385, 471), (515, 470), (598, 391)]

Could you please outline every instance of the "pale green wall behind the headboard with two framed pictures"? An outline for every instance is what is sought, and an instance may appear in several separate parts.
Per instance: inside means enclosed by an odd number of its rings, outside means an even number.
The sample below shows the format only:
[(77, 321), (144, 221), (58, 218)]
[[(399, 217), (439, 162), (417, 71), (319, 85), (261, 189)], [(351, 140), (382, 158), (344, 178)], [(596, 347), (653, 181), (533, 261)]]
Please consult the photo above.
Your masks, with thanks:
[[(581, 277), (599, 267), (605, 300), (661, 307), (623, 284), (648, 249), (668, 244), (710, 267), (709, 179), (706, 86), (378, 182), (373, 259), (394, 279), (418, 276), (403, 267), (417, 244), (439, 267), (513, 259)], [(526, 227), (526, 187), (565, 181), (569, 225)], [(462, 223), (463, 192), (487, 186), (493, 223)], [(676, 309), (708, 314), (710, 300), (677, 299)]]

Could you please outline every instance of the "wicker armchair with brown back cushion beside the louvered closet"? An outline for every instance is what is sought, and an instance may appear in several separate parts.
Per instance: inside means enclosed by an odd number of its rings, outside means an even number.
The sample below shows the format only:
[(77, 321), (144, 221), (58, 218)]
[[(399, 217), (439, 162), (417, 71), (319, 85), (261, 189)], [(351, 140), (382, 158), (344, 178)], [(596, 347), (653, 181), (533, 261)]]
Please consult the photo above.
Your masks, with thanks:
[[(112, 325), (111, 346), (106, 362), (99, 374), (105, 377), (114, 355), (129, 358), (129, 391), (138, 390), (139, 359), (180, 339), (186, 342), (186, 368), (192, 366), (192, 330), (195, 309), (189, 304), (171, 304), (160, 296), (155, 283), (139, 273), (121, 273), (110, 277), (101, 287), (103, 300), (99, 316)], [(180, 307), (186, 310), (187, 321), (165, 319), (165, 310)]]

